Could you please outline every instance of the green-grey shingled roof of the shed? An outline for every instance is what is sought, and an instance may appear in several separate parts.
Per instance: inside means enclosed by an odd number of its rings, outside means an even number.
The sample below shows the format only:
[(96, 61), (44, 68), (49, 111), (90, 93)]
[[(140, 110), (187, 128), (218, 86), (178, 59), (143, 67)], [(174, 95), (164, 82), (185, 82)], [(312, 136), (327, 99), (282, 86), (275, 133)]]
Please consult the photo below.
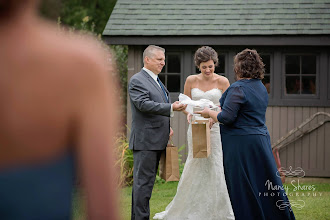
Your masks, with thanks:
[(118, 0), (103, 35), (330, 34), (330, 0)]

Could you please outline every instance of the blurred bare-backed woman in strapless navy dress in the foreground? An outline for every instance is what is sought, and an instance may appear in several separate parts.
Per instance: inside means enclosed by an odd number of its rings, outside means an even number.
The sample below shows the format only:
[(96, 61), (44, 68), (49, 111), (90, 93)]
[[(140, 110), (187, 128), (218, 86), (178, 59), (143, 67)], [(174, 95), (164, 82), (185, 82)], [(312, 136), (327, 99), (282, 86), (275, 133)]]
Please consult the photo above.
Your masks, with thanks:
[(71, 219), (78, 170), (88, 219), (117, 220), (107, 54), (59, 33), (38, 2), (0, 0), (0, 219)]

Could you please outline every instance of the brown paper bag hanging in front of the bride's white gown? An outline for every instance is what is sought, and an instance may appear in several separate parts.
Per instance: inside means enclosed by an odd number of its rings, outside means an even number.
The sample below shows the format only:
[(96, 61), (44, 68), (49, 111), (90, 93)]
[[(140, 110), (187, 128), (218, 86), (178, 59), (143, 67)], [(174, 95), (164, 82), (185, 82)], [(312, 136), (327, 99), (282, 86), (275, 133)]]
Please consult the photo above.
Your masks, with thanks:
[(193, 158), (206, 158), (211, 153), (210, 146), (210, 122), (208, 119), (193, 120), (192, 145)]

